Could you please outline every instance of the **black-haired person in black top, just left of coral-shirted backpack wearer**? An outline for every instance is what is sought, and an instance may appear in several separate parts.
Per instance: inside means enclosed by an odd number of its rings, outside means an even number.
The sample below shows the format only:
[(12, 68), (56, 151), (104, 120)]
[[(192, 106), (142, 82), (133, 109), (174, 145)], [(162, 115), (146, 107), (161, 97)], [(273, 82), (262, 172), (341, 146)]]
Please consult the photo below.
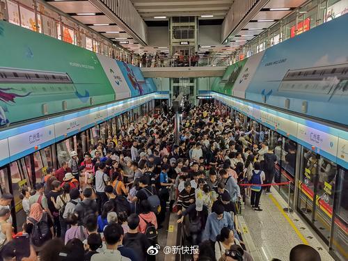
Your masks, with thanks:
[(145, 261), (148, 257), (147, 250), (151, 246), (148, 237), (139, 232), (140, 218), (136, 214), (128, 216), (129, 232), (123, 237), (123, 245), (132, 248), (138, 255), (138, 260)]

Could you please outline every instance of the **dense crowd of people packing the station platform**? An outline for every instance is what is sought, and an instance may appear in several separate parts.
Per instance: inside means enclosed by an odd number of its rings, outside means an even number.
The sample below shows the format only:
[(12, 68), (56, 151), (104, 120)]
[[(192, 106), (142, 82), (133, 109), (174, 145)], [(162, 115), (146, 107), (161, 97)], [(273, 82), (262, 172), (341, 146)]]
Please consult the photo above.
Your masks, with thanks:
[[(267, 142), (254, 143), (253, 128), (232, 121), (224, 106), (193, 107), (176, 142), (173, 119), (168, 109), (120, 126), (84, 159), (72, 151), (70, 161), (48, 169), (34, 188), (22, 187), (27, 217), (15, 235), (8, 207), (13, 196), (3, 193), (1, 258), (155, 260), (147, 250), (158, 244), (166, 216), (176, 212), (188, 244), (199, 246), (192, 260), (253, 260), (237, 214), (246, 198), (262, 211), (261, 184), (272, 182), (276, 155)], [(242, 186), (247, 183), (253, 185)]]

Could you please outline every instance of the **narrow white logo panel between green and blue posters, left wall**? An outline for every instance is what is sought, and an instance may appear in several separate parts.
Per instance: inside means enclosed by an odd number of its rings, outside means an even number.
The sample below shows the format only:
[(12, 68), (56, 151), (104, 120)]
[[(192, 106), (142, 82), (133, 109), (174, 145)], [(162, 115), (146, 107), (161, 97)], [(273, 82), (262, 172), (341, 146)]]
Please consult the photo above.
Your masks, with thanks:
[(125, 80), (125, 77), (123, 77), (123, 74), (116, 61), (113, 60), (113, 58), (106, 57), (102, 54), (97, 54), (97, 57), (104, 68), (104, 72), (106, 73), (113, 90), (116, 93), (116, 100), (131, 97), (127, 81)]

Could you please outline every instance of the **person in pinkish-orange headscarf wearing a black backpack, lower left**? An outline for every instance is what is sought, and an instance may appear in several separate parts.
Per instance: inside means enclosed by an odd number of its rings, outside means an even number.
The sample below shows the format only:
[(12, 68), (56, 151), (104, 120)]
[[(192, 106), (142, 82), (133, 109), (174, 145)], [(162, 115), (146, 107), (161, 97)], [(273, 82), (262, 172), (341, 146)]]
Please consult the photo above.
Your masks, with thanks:
[(39, 252), (54, 235), (52, 219), (49, 218), (47, 212), (43, 211), (39, 203), (33, 203), (27, 222), (33, 224), (31, 244), (34, 250)]

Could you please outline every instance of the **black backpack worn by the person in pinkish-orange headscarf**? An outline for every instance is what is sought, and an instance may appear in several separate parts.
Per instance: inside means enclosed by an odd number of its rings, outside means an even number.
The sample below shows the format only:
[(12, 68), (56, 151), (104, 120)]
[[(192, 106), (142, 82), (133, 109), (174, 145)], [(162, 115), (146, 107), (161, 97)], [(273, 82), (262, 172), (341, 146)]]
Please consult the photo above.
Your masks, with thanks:
[(49, 239), (52, 239), (47, 213), (42, 214), (40, 221), (36, 221), (31, 217), (29, 217), (28, 220), (33, 223), (33, 230), (31, 232), (31, 244), (33, 244), (33, 246), (42, 246)]

